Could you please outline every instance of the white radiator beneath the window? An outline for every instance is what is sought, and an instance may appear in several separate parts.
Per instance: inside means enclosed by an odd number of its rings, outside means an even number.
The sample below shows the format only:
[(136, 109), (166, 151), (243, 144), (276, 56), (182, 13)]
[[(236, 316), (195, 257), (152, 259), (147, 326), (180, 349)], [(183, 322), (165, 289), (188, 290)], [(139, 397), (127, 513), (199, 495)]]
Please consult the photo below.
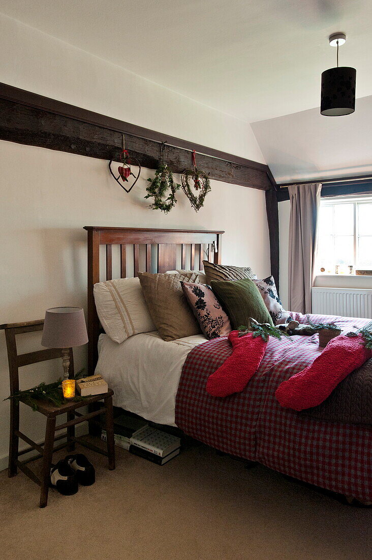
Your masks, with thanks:
[(372, 290), (312, 288), (312, 312), (372, 319)]

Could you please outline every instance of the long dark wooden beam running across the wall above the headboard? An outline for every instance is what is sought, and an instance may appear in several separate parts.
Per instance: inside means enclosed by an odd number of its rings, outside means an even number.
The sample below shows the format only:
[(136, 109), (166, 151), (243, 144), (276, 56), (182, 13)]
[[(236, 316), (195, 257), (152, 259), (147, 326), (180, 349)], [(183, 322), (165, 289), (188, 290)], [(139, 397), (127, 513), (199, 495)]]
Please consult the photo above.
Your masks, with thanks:
[(61, 101), (0, 84), (0, 139), (110, 160), (125, 147), (143, 167), (156, 169), (160, 142), (175, 173), (191, 167), (190, 150), (210, 179), (266, 190), (272, 188), (269, 167), (213, 148), (192, 144)]

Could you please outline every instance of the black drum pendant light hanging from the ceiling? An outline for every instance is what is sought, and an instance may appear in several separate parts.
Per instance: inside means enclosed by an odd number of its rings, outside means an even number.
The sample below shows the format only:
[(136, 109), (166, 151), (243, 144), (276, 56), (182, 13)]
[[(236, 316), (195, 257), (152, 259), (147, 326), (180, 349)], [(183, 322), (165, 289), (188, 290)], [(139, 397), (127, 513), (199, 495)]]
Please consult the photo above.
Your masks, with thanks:
[(321, 114), (325, 116), (350, 115), (355, 111), (356, 69), (338, 66), (338, 47), (345, 41), (344, 33), (329, 36), (329, 45), (337, 47), (337, 68), (322, 73)]

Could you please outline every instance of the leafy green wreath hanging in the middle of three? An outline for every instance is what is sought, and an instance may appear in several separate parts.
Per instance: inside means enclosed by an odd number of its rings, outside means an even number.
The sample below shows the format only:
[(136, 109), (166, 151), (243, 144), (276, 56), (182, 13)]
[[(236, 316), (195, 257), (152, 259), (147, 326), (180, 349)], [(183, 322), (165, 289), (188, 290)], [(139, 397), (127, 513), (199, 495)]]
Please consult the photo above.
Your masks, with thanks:
[[(175, 183), (172, 171), (168, 169), (167, 164), (164, 164), (164, 142), (161, 144), (160, 150), (162, 163), (156, 170), (154, 179), (148, 179), (150, 184), (146, 187), (147, 195), (145, 198), (154, 199), (149, 208), (161, 210), (164, 214), (168, 214), (177, 203), (176, 192), (181, 188), (181, 185)], [(168, 197), (163, 200), (168, 191), (170, 191)]]

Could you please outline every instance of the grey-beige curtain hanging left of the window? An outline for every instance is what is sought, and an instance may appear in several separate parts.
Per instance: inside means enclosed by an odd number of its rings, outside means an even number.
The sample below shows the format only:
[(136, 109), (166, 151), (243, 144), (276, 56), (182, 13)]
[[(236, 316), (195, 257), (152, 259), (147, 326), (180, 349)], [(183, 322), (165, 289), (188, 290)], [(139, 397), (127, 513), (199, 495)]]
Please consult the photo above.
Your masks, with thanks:
[(321, 183), (288, 187), (291, 203), (288, 262), (290, 311), (311, 313), (321, 189)]

